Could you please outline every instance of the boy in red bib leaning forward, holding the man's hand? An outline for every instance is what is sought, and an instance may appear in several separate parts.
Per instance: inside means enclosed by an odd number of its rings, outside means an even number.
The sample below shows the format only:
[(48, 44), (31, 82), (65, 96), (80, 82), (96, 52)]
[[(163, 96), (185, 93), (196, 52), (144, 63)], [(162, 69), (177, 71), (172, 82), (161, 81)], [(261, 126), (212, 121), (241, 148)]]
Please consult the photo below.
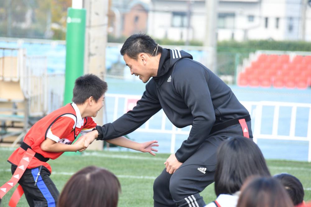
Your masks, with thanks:
[[(72, 142), (81, 134), (86, 134), (96, 127), (91, 117), (96, 117), (103, 107), (107, 83), (99, 77), (87, 74), (77, 78), (73, 89), (73, 103), (59, 108), (36, 122), (26, 134), (21, 147), (8, 158), (12, 164), (13, 177), (1, 186), (0, 198), (17, 182), (20, 184), (14, 192), (9, 205), (15, 206), (25, 193), (30, 206), (56, 206), (59, 192), (50, 179), (49, 159), (58, 158), (63, 152), (83, 151), (83, 136), (73, 145)], [(137, 143), (125, 137), (107, 140), (116, 145), (149, 152), (158, 146), (156, 140)]]

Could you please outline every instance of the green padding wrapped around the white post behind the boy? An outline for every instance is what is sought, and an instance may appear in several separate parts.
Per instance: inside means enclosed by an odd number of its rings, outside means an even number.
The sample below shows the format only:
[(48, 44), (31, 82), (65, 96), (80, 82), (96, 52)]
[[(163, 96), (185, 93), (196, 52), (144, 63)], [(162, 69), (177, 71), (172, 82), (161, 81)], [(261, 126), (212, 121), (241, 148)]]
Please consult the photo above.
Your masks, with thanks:
[(84, 74), (85, 9), (67, 10), (64, 105), (71, 103), (75, 80)]

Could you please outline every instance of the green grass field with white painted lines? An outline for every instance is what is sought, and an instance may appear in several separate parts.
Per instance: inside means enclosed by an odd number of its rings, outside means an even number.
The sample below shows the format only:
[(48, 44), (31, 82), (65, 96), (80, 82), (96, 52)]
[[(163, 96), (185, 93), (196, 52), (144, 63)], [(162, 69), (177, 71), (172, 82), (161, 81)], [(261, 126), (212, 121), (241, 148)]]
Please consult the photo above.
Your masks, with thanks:
[[(11, 165), (6, 162), (12, 151), (0, 148), (0, 185), (12, 177)], [(157, 154), (153, 157), (150, 154), (134, 152), (86, 151), (74, 156), (64, 154), (56, 160), (49, 160), (49, 164), (53, 170), (51, 178), (59, 191), (73, 173), (86, 166), (96, 165), (113, 172), (121, 182), (119, 207), (145, 207), (153, 206), (153, 181), (164, 169), (163, 163), (168, 156), (169, 154)], [(311, 163), (267, 160), (267, 164), (272, 175), (286, 172), (298, 177), (305, 189), (304, 200), (311, 200)], [(2, 206), (7, 206), (14, 189), (4, 196)], [(206, 203), (215, 200), (213, 184), (201, 195)], [(17, 206), (28, 206), (24, 196)]]

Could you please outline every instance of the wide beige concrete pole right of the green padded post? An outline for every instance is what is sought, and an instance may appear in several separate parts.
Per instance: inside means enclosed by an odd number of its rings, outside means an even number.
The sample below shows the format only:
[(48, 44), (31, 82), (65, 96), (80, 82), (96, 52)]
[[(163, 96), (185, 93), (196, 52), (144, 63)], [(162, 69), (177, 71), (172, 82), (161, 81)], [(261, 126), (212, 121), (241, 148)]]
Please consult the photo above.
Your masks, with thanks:
[[(84, 73), (95, 74), (104, 80), (106, 74), (108, 0), (84, 0), (83, 6), (86, 9)], [(94, 118), (98, 125), (104, 124), (104, 108)], [(89, 149), (102, 150), (103, 141), (94, 141)]]

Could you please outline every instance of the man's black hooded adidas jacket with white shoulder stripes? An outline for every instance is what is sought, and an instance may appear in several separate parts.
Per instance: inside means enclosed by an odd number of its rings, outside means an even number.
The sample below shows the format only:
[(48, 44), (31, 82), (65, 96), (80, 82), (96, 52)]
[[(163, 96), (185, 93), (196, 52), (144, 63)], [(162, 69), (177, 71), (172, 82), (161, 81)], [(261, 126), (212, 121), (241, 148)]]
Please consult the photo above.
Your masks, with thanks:
[(146, 84), (137, 106), (103, 125), (102, 140), (131, 133), (161, 108), (176, 127), (192, 125), (188, 139), (175, 153), (182, 163), (208, 138), (214, 125), (249, 115), (231, 89), (192, 55), (164, 48), (158, 74)]

